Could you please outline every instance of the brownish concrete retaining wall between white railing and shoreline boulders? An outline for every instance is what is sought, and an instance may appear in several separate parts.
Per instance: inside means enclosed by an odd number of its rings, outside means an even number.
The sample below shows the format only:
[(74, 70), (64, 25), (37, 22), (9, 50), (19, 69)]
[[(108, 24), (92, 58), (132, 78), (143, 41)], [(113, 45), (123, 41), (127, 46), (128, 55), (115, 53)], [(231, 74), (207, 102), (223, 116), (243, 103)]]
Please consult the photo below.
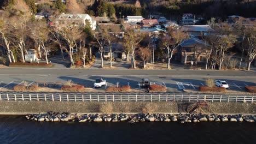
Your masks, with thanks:
[[(101, 113), (101, 105), (110, 104), (115, 113), (179, 113), (188, 112), (195, 103), (181, 102), (73, 102), (73, 101), (0, 101), (1, 115), (26, 115), (38, 112)], [(146, 106), (147, 105), (147, 106)], [(209, 103), (210, 109), (201, 109), (206, 113), (256, 113), (256, 105), (251, 103)], [(146, 109), (146, 110), (145, 110)], [(200, 112), (200, 110), (198, 111)]]

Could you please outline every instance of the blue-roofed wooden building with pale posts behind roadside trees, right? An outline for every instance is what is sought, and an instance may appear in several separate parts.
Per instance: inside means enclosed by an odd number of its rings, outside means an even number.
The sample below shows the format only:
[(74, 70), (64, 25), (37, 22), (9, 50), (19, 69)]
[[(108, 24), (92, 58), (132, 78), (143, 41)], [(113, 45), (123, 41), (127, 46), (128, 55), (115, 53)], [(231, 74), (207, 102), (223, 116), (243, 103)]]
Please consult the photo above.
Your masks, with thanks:
[(205, 62), (206, 53), (205, 49), (209, 47), (205, 41), (191, 37), (190, 39), (184, 40), (179, 47), (179, 58), (182, 63), (190, 63), (191, 61)]

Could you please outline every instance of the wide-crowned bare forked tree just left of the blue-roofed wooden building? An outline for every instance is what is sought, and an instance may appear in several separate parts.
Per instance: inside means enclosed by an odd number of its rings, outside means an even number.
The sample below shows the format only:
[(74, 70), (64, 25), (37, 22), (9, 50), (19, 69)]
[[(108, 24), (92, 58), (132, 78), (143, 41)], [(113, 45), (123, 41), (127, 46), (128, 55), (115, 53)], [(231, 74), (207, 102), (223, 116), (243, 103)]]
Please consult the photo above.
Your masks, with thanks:
[(188, 34), (183, 32), (183, 29), (171, 29), (164, 37), (161, 38), (162, 45), (164, 45), (167, 50), (167, 69), (170, 69), (170, 62), (173, 53), (179, 45), (184, 43), (185, 39), (188, 39)]

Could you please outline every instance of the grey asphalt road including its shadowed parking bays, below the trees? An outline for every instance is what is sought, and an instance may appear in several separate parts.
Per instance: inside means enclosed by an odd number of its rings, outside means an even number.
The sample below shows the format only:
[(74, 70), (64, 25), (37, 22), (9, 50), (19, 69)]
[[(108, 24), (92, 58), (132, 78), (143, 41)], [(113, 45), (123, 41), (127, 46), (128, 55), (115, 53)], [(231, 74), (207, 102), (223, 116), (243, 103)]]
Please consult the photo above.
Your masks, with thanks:
[(42, 68), (3, 68), (0, 70), (0, 88), (12, 89), (27, 81), (28, 85), (38, 82), (60, 82), (67, 80), (85, 87), (93, 87), (96, 78), (106, 79), (107, 86), (130, 85), (142, 89), (138, 82), (149, 77), (152, 83), (164, 85), (168, 93), (182, 93), (183, 89), (197, 89), (205, 85), (206, 77), (226, 80), (233, 91), (243, 91), (245, 86), (256, 85), (256, 71), (218, 71), (218, 70), (112, 70), (112, 69), (42, 69)]

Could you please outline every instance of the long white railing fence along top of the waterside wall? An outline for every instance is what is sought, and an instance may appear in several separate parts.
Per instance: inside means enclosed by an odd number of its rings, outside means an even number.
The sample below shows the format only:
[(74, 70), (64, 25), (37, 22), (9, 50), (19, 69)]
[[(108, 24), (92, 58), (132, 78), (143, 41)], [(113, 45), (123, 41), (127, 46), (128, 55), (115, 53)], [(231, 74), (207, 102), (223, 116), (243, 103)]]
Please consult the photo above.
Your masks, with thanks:
[(0, 94), (8, 101), (209, 101), (226, 103), (255, 103), (254, 95), (199, 95), (199, 94)]

